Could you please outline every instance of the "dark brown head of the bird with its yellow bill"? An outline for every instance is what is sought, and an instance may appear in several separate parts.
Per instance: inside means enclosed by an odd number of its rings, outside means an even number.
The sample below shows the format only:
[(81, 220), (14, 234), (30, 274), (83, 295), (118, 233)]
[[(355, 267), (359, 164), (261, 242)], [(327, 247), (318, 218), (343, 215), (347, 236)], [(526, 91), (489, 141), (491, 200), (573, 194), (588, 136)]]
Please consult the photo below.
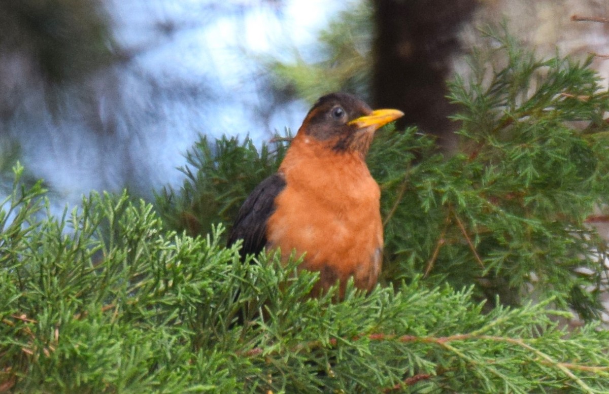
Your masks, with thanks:
[(354, 95), (331, 93), (311, 108), (298, 134), (304, 134), (337, 153), (368, 153), (375, 131), (404, 113), (397, 109), (376, 109)]

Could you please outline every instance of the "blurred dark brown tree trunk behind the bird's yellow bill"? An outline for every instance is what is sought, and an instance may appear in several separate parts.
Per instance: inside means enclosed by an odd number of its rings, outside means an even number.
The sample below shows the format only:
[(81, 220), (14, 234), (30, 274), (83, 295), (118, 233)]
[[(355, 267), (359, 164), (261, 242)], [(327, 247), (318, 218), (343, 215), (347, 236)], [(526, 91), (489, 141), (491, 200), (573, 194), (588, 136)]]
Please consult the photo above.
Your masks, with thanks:
[(404, 111), (400, 126), (417, 125), (451, 150), (455, 109), (445, 96), (457, 33), (477, 0), (374, 0), (375, 108)]

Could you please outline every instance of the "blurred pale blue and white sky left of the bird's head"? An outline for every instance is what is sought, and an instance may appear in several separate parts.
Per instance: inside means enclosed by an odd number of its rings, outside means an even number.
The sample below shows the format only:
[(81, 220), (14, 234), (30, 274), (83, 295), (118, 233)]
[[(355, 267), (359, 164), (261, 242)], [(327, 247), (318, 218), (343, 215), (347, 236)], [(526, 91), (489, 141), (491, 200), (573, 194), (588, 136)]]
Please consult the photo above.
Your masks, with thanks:
[(45, 109), (44, 88), (25, 82), (28, 98), (10, 126), (26, 169), (54, 191), (56, 212), (91, 190), (128, 187), (152, 198), (166, 185), (179, 188), (177, 167), (186, 164), (199, 135), (250, 136), (261, 145), (275, 131), (297, 130), (306, 103), (281, 108), (267, 122), (256, 116), (266, 102), (267, 75), (253, 59), (289, 61), (297, 48), (315, 60), (317, 33), (348, 6), (322, 0), (286, 0), (281, 7), (270, 0), (102, 4), (130, 60), (65, 89), (58, 114)]

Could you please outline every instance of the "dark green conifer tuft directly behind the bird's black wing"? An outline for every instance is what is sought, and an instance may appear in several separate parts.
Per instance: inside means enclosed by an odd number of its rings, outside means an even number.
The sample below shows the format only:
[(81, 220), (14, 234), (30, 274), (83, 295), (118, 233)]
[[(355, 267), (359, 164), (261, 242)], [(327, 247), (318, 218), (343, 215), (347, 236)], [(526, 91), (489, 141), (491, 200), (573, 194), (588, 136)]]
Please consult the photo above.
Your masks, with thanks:
[(186, 180), (179, 193), (170, 187), (157, 195), (157, 206), (167, 226), (191, 235), (205, 234), (216, 223), (230, 223), (256, 185), (279, 167), (286, 147), (256, 150), (251, 139), (236, 137), (210, 143), (201, 137), (180, 168)]

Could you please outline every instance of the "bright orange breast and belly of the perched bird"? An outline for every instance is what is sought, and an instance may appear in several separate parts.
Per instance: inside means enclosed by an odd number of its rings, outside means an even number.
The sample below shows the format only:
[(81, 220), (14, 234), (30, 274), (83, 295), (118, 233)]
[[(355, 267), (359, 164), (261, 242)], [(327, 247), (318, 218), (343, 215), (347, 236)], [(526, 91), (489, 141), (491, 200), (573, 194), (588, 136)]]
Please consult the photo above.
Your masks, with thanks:
[(305, 254), (300, 268), (320, 272), (313, 295), (353, 276), (370, 290), (381, 271), (381, 192), (359, 153), (335, 153), (306, 136), (292, 142), (280, 172), (286, 187), (275, 199), (267, 246)]

